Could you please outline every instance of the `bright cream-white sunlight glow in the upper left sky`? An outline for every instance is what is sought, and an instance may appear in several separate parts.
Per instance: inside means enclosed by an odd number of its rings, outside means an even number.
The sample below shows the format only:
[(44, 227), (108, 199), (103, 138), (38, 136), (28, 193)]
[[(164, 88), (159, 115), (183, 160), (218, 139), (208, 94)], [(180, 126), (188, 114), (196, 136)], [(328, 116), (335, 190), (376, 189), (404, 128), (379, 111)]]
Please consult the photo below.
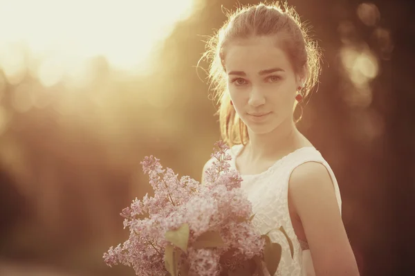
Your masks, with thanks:
[(145, 73), (160, 42), (199, 2), (0, 0), (0, 66), (12, 84), (29, 72), (45, 86), (66, 76), (80, 82), (84, 60), (98, 55), (113, 68)]

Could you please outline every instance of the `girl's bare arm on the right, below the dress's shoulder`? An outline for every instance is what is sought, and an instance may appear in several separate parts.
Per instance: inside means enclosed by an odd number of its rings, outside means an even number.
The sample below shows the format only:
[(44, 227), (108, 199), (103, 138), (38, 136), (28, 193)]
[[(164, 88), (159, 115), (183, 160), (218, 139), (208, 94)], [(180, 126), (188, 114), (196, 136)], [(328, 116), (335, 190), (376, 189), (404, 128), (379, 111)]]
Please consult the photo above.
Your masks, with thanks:
[(315, 275), (359, 275), (326, 167), (315, 162), (299, 165), (288, 187), (310, 247)]

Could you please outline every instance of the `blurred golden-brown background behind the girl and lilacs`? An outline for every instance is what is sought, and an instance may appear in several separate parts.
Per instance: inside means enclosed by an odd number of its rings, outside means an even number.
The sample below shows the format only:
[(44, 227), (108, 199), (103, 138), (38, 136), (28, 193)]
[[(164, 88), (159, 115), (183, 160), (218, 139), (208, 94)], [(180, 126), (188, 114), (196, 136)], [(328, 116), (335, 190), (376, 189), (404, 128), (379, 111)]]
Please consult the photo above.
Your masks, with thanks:
[[(151, 194), (145, 156), (200, 180), (220, 133), (197, 64), (235, 4), (0, 0), (1, 276), (134, 275), (102, 255)], [(338, 178), (361, 275), (415, 275), (409, 1), (288, 4), (324, 49), (298, 127)]]

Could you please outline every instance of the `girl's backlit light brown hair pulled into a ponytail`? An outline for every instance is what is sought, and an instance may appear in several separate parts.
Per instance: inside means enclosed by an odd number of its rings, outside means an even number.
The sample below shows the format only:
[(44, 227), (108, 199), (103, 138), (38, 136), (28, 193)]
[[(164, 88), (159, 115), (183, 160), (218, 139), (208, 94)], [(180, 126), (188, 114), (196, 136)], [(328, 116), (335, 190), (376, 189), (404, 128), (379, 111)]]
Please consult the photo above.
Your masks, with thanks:
[[(285, 51), (296, 74), (306, 74), (306, 83), (300, 91), (303, 98), (311, 93), (320, 74), (320, 50), (311, 41), (297, 12), (284, 3), (259, 3), (255, 6), (238, 8), (227, 12), (228, 20), (207, 43), (203, 57), (207, 58), (209, 80), (213, 86), (214, 98), (220, 104), (219, 114), (222, 139), (230, 147), (246, 145), (249, 140), (248, 128), (230, 104), (228, 81), (225, 72), (225, 46), (234, 39), (257, 36), (275, 36)], [(202, 57), (202, 58), (203, 58)]]

